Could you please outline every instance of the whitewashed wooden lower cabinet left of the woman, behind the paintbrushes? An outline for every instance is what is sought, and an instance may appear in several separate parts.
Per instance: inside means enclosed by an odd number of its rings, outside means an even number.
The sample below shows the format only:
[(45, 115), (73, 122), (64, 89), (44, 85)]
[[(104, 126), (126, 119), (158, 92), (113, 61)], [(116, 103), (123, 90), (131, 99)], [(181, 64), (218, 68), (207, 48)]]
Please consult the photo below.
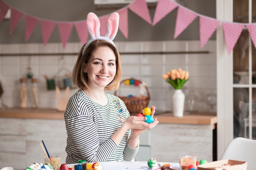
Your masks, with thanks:
[(23, 170), (31, 163), (43, 163), (42, 140), (49, 154), (61, 156), (65, 163), (64, 120), (0, 118), (0, 168)]

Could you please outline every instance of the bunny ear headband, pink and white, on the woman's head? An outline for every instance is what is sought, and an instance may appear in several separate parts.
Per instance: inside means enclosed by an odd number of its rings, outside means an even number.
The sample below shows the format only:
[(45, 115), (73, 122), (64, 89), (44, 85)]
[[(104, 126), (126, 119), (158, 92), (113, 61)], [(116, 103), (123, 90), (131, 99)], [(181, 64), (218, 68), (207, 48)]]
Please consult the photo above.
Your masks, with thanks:
[(100, 35), (100, 31), (99, 31), (100, 22), (99, 22), (99, 18), (97, 17), (97, 15), (95, 15), (95, 13), (92, 13), (92, 12), (88, 13), (86, 24), (87, 24), (87, 28), (88, 28), (91, 39), (85, 44), (82, 54), (84, 54), (86, 48), (88, 48), (91, 42), (96, 39), (103, 39), (115, 46), (113, 39), (117, 35), (118, 24), (119, 24), (119, 14), (117, 12), (112, 13), (108, 17), (108, 31), (104, 37)]

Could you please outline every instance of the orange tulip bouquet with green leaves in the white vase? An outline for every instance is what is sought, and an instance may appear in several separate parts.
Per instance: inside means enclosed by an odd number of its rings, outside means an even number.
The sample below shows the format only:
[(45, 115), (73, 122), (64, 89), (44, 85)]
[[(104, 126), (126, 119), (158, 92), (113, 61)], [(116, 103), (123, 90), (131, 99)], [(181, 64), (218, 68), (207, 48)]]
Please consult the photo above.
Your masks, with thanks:
[(173, 86), (174, 89), (182, 89), (182, 86), (189, 81), (189, 72), (179, 68), (168, 71), (167, 74), (163, 74), (162, 78), (167, 83)]

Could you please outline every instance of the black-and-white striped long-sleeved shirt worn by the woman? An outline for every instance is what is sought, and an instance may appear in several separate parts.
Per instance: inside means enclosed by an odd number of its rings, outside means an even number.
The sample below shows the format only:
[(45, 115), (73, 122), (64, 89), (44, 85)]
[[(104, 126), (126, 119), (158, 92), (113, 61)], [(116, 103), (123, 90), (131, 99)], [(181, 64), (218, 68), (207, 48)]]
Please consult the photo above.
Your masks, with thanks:
[(119, 145), (110, 137), (130, 116), (124, 102), (112, 94), (106, 94), (108, 104), (101, 106), (80, 89), (70, 97), (64, 113), (67, 146), (66, 163), (131, 161), (138, 152), (128, 145), (130, 129)]

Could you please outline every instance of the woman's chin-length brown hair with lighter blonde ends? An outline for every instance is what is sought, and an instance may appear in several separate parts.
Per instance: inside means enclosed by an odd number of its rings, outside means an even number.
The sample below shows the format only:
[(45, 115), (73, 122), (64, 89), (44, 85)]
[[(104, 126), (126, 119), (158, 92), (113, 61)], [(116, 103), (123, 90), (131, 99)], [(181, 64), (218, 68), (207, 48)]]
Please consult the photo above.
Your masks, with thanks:
[[(84, 47), (85, 45), (83, 45)], [(74, 85), (82, 89), (88, 89), (88, 75), (87, 73), (83, 72), (83, 63), (88, 63), (92, 53), (96, 51), (99, 47), (108, 46), (110, 49), (113, 50), (115, 57), (116, 57), (116, 75), (114, 79), (105, 87), (105, 90), (117, 90), (120, 82), (121, 82), (121, 75), (122, 75), (122, 68), (121, 68), (121, 57), (117, 50), (117, 48), (109, 43), (108, 41), (102, 39), (96, 39), (92, 41), (91, 44), (86, 48), (84, 54), (83, 47), (81, 48), (78, 58), (76, 60), (76, 64), (74, 66), (72, 72), (72, 81)]]

